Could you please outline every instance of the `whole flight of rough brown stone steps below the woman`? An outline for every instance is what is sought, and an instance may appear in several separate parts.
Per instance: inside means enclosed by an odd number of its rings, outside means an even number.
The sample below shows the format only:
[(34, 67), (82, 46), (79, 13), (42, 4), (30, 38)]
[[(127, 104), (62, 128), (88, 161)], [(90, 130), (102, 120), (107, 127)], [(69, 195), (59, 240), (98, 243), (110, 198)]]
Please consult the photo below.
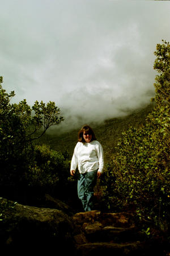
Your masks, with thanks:
[(76, 255), (163, 255), (135, 225), (131, 213), (80, 212), (73, 216)]

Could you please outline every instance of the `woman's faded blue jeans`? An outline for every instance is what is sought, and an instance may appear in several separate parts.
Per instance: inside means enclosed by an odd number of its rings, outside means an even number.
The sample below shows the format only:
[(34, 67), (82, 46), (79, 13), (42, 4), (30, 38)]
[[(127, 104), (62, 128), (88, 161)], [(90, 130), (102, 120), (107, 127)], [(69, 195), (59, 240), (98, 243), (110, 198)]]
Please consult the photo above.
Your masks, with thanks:
[(94, 187), (97, 182), (97, 171), (86, 172), (80, 174), (78, 180), (78, 197), (82, 201), (83, 209), (85, 212), (94, 210)]

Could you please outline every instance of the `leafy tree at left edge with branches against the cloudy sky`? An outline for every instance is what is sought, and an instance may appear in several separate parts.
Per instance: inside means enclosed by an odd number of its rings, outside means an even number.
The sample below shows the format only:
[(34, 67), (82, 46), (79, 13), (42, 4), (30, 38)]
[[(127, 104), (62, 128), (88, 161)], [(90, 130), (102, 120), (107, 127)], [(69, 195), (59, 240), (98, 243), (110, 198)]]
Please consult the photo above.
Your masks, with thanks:
[[(25, 99), (19, 104), (10, 104), (15, 93), (6, 93), (1, 85), (2, 81), (0, 77), (0, 138), (6, 146), (17, 144), (18, 148), (23, 147), (25, 143), (40, 138), (50, 126), (63, 121), (63, 117), (59, 116), (59, 108), (51, 101), (46, 105), (42, 101), (36, 101), (32, 108)], [(1, 143), (1, 147), (5, 143)]]

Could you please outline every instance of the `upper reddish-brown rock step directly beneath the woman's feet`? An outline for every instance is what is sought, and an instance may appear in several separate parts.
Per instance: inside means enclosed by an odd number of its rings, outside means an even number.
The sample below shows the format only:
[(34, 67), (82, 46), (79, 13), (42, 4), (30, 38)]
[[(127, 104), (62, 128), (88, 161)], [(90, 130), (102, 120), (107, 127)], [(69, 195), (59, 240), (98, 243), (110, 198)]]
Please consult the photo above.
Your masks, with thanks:
[(73, 220), (86, 235), (88, 242), (128, 242), (139, 237), (131, 214), (94, 210), (76, 213)]

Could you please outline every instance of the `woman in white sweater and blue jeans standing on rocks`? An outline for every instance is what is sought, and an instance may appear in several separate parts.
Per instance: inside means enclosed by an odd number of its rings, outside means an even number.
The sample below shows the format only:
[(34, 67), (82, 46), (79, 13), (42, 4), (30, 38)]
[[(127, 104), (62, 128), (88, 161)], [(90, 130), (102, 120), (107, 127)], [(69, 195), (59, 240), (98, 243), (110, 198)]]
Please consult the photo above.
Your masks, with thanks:
[(74, 176), (77, 166), (80, 172), (78, 197), (86, 212), (94, 209), (94, 187), (97, 177), (101, 176), (104, 167), (103, 148), (96, 141), (94, 131), (88, 125), (83, 126), (78, 133), (78, 143), (76, 143), (71, 160), (70, 174), (72, 176)]

